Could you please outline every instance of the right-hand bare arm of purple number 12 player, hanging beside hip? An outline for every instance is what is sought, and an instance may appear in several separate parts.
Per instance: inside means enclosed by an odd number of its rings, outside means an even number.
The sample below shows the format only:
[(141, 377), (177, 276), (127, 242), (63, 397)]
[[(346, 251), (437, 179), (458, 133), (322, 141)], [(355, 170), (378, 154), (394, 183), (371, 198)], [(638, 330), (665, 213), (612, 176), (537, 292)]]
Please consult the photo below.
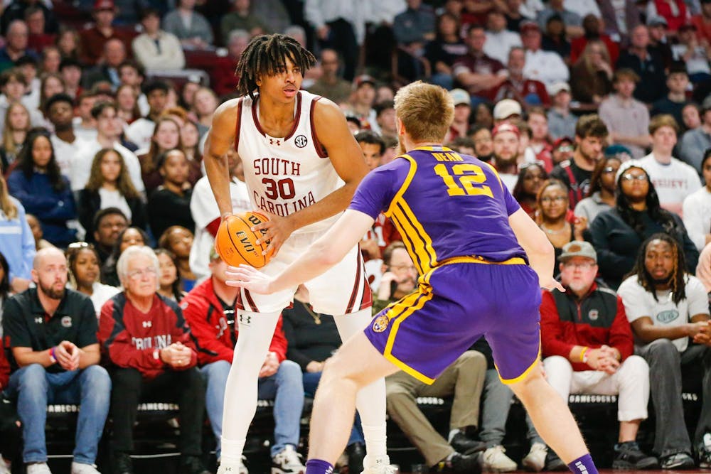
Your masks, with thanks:
[(508, 216), (508, 223), (513, 229), (518, 243), (528, 255), (528, 262), (531, 268), (538, 274), (538, 283), (541, 288), (557, 288), (560, 291), (565, 291), (562, 285), (553, 279), (555, 251), (538, 225), (533, 222), (523, 209), (519, 209)]

